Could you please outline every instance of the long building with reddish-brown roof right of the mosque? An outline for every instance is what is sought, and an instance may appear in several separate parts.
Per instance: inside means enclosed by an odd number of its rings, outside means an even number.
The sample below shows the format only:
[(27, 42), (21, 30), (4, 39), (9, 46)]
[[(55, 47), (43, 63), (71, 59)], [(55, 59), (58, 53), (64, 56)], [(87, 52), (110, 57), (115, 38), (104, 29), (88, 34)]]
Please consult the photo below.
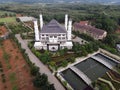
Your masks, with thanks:
[(107, 32), (102, 29), (95, 28), (91, 25), (81, 25), (76, 22), (73, 25), (73, 31), (79, 31), (80, 33), (90, 35), (95, 40), (102, 40), (107, 36)]

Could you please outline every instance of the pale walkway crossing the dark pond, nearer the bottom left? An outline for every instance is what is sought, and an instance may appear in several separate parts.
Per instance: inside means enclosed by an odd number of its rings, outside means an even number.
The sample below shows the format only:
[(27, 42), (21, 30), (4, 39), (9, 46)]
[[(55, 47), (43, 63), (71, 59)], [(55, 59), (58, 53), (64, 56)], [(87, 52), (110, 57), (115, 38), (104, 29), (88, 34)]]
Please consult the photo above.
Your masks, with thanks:
[(84, 80), (88, 85), (92, 83), (92, 81), (79, 69), (77, 69), (75, 66), (70, 67), (72, 71), (74, 71), (80, 78)]

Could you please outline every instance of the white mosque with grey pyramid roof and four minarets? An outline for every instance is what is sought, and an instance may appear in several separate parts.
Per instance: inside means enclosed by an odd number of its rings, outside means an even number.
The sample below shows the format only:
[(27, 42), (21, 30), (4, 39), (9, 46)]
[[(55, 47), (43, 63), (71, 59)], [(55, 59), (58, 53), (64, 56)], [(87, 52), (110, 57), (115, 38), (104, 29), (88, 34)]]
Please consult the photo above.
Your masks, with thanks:
[(59, 24), (56, 20), (51, 20), (48, 24), (43, 24), (43, 17), (40, 14), (40, 30), (37, 20), (34, 20), (35, 44), (36, 50), (57, 51), (59, 49), (72, 49), (72, 20), (68, 21), (68, 15), (65, 15), (65, 26)]

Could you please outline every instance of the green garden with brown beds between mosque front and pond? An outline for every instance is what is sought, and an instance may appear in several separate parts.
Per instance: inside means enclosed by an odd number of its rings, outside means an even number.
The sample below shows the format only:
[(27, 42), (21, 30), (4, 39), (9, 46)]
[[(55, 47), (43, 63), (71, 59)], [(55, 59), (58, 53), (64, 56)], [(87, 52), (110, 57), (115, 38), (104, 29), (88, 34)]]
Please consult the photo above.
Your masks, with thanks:
[(30, 42), (28, 46), (44, 64), (48, 64), (55, 70), (59, 67), (66, 67), (68, 63), (73, 63), (76, 57), (87, 56), (89, 53), (93, 53), (98, 50), (98, 46), (93, 42), (85, 45), (74, 43), (72, 50), (69, 51), (65, 48), (54, 53), (44, 50), (35, 50), (33, 42)]

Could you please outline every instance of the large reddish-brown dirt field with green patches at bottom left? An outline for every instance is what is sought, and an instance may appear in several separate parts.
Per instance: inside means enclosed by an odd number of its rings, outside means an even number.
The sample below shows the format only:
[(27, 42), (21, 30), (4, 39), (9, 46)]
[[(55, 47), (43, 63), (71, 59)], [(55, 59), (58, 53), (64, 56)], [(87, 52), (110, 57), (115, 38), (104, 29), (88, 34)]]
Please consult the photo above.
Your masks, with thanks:
[(0, 48), (0, 62), (6, 79), (3, 83), (0, 77), (0, 90), (36, 89), (32, 83), (33, 77), (30, 75), (29, 66), (13, 40), (3, 41), (3, 46)]

